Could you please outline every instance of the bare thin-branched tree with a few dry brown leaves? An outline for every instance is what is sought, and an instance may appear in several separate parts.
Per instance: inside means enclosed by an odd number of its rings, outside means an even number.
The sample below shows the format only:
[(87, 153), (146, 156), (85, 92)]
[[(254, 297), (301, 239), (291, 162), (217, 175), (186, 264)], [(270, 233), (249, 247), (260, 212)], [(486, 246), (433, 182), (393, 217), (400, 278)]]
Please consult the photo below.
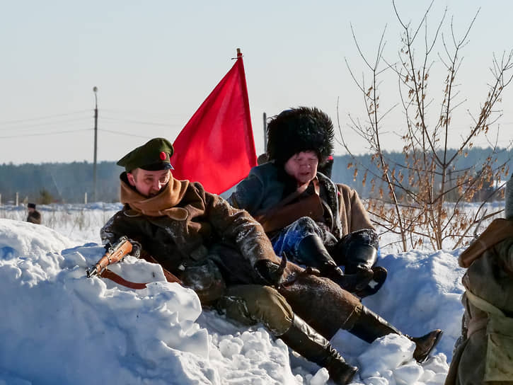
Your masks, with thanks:
[[(473, 226), (500, 212), (486, 213), (483, 207), (485, 202), (503, 194), (501, 180), (509, 173), (509, 159), (502, 163), (497, 161), (497, 154), (504, 149), (500, 150), (497, 146), (499, 127), (496, 123), (501, 113), (496, 105), (502, 101), (502, 93), (512, 81), (509, 72), (513, 67), (513, 52), (504, 53), (500, 58), (493, 56), (488, 92), (478, 111), (466, 111), (469, 130), (460, 136), (459, 148), (450, 149), (449, 138), (454, 131), (451, 129), (454, 127), (455, 111), (463, 108), (466, 102), (461, 98), (460, 84), (456, 81), (463, 62), (461, 51), (468, 43), (468, 35), (479, 11), (461, 38), (456, 37), (451, 20), (449, 38), (446, 38), (442, 31), (446, 23), (445, 10), (430, 36), (427, 20), (432, 4), (417, 27), (412, 28), (410, 23), (405, 23), (400, 17), (392, 1), (402, 31), (396, 62), (389, 62), (384, 57), (386, 27), (376, 57), (370, 61), (362, 53), (351, 26), (353, 39), (365, 67), (361, 80), (357, 79), (346, 59), (352, 79), (362, 93), (366, 111), (364, 121), (350, 115), (350, 128), (364, 139), (371, 152), (370, 167), (357, 161), (350, 166), (355, 168), (355, 175), (363, 169), (364, 183), (367, 180), (371, 183), (369, 212), (376, 224), (400, 235), (403, 251), (416, 248), (425, 240), (435, 250), (443, 248), (444, 241), (448, 239), (451, 239), (454, 248), (463, 246), (471, 238), (469, 231)], [(420, 44), (418, 40), (421, 40)], [(440, 40), (442, 53), (435, 51)], [(419, 45), (422, 47), (420, 50)], [(438, 99), (435, 98), (436, 88), (430, 83), (435, 65), (442, 65), (446, 74), (442, 84), (434, 82), (434, 86), (442, 89)], [(383, 109), (380, 108), (379, 98), (385, 73), (392, 74), (392, 79), (398, 80), (399, 102), (395, 105), (391, 103), (391, 107)], [(404, 155), (400, 161), (388, 156), (382, 144), (383, 135), (389, 130), (384, 118), (394, 108), (401, 108), (404, 117), (403, 130), (399, 133)], [(491, 138), (492, 125), (497, 126), (494, 140)], [(340, 129), (340, 120), (338, 126), (342, 146), (353, 155)], [(488, 155), (482, 163), (458, 168), (459, 157), (466, 156), (478, 138), (488, 141)], [(511, 146), (512, 142), (509, 142), (507, 147)], [(357, 159), (354, 155), (353, 158)], [(483, 204), (478, 212), (466, 212), (463, 209), (465, 202), (471, 201), (485, 188), (490, 193), (482, 197)]]

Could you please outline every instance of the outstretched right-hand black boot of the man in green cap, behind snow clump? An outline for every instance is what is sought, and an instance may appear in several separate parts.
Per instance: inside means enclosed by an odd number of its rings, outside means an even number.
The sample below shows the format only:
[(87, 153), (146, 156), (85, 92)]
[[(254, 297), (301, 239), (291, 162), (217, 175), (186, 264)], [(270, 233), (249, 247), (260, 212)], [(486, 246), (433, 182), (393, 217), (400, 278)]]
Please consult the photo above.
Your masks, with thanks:
[(408, 337), (415, 343), (413, 358), (417, 362), (424, 362), (427, 359), (443, 333), (442, 330), (435, 329), (426, 335), (422, 335), (422, 337), (410, 337), (410, 335), (401, 333), (395, 326), (392, 326), (384, 318), (381, 318), (381, 316), (365, 306), (362, 306), (361, 313), (354, 326), (347, 329), (347, 331), (368, 343), (390, 333), (405, 335), (405, 337)]

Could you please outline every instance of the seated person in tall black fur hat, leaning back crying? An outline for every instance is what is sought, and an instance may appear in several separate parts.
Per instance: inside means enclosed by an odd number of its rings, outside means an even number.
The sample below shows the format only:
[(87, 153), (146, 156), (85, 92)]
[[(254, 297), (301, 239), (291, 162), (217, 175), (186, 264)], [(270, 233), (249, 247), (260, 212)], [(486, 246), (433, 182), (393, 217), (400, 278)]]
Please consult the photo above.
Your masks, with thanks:
[(376, 267), (378, 236), (357, 192), (319, 172), (330, 173), (333, 137), (330, 117), (317, 108), (272, 117), (268, 162), (251, 169), (229, 202), (263, 224), (277, 255), (365, 297), (383, 285), (386, 270)]

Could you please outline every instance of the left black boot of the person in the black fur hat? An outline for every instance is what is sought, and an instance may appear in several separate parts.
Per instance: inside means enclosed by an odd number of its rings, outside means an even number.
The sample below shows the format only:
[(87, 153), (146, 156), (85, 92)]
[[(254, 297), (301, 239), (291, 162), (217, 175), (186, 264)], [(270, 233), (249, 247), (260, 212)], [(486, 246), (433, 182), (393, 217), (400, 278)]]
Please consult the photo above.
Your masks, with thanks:
[(371, 270), (344, 274), (326, 250), (321, 238), (316, 235), (301, 239), (298, 245), (298, 258), (301, 263), (317, 268), (323, 277), (329, 278), (348, 292), (363, 290), (372, 279)]

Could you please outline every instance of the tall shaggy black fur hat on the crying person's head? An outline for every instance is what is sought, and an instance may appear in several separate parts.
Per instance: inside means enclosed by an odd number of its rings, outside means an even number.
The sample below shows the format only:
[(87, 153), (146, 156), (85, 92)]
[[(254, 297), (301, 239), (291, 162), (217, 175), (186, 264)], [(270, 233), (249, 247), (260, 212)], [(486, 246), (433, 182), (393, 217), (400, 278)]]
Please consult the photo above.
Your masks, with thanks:
[(318, 108), (284, 110), (267, 125), (267, 156), (279, 166), (301, 151), (315, 151), (319, 163), (333, 153), (333, 123)]

